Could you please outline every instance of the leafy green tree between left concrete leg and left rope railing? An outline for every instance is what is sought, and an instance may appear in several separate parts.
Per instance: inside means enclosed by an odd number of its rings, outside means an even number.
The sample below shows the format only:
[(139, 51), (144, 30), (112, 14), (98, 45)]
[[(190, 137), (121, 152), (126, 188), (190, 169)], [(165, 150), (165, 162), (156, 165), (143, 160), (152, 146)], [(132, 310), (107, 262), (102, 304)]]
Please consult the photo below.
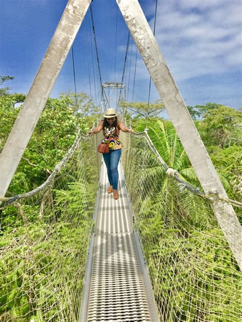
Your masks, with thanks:
[[(77, 135), (77, 118), (67, 106), (65, 98), (49, 98), (36, 125), (30, 142), (13, 177), (9, 191), (18, 192), (22, 173), (29, 190), (42, 183), (62, 159)], [(83, 126), (81, 124), (81, 126)], [(27, 179), (28, 178), (28, 179)], [(20, 180), (21, 181), (21, 180)], [(18, 186), (18, 187), (17, 187)], [(25, 186), (22, 184), (22, 186)]]

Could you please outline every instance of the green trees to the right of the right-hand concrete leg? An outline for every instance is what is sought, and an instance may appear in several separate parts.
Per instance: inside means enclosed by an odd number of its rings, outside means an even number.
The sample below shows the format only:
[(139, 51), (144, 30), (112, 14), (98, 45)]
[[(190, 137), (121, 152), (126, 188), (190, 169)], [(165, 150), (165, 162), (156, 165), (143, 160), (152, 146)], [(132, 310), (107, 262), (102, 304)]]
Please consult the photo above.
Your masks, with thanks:
[(231, 199), (241, 199), (242, 113), (228, 106), (196, 105), (202, 120), (196, 121), (203, 142)]

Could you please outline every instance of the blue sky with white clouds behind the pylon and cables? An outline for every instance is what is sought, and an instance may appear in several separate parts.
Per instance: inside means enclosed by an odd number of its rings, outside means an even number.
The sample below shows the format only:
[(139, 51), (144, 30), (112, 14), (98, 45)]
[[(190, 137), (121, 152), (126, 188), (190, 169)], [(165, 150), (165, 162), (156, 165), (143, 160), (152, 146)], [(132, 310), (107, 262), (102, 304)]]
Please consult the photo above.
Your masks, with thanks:
[[(155, 0), (139, 3), (153, 28)], [(0, 74), (15, 77), (5, 83), (12, 92), (28, 92), (66, 4), (67, 0), (0, 0)], [(94, 0), (92, 10), (102, 81), (121, 82), (127, 26), (118, 10), (116, 38), (115, 0)], [(241, 3), (236, 0), (158, 0), (156, 39), (187, 105), (216, 102), (234, 108), (242, 106), (241, 20)], [(98, 99), (92, 42), (88, 12), (73, 45), (77, 91), (90, 94), (89, 63), (92, 97), (95, 99), (95, 82)], [(126, 76), (128, 100), (133, 97), (135, 53), (132, 40)], [(74, 91), (71, 52), (51, 97), (67, 90)], [(148, 94), (149, 74), (138, 55), (134, 100), (147, 101)], [(151, 101), (158, 98), (152, 85)]]

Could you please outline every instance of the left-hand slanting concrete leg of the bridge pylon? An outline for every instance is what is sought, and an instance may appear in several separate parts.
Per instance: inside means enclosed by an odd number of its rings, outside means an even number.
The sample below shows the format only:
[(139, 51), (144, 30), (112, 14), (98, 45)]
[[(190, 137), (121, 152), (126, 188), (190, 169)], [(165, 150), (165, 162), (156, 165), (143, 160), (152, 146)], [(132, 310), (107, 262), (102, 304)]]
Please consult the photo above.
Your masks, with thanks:
[(69, 0), (56, 32), (0, 155), (0, 197), (4, 197), (91, 0)]

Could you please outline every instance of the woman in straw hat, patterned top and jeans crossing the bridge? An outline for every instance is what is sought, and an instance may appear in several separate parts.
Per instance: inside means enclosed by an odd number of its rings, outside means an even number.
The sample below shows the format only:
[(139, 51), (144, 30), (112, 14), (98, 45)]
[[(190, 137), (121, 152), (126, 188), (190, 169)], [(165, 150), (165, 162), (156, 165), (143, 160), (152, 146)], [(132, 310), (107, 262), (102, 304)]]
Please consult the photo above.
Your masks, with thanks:
[[(107, 109), (106, 113), (103, 115), (104, 120), (99, 123), (92, 131), (88, 134), (92, 135), (99, 133), (103, 130), (104, 139), (102, 143), (108, 143), (109, 153), (103, 153), (104, 162), (107, 167), (109, 188), (107, 190), (108, 194), (113, 192), (113, 198), (118, 199), (119, 194), (117, 190), (118, 185), (118, 171), (117, 166), (121, 156), (121, 149), (123, 147), (122, 143), (118, 139), (119, 130), (123, 132), (133, 133), (134, 130), (128, 128), (124, 123), (117, 120), (117, 114), (114, 109)], [(109, 139), (110, 138), (110, 139)]]

